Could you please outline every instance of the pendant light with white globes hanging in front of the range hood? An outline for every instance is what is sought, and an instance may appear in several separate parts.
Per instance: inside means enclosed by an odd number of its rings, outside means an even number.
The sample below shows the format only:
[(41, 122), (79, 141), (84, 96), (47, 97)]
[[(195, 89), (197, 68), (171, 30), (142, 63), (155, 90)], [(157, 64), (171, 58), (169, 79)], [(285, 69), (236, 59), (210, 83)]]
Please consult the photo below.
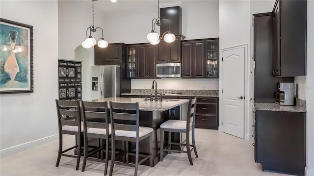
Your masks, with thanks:
[[(168, 31), (164, 32), (161, 37), (159, 37), (159, 34), (155, 31), (155, 25), (160, 26), (162, 22), (168, 22)], [(167, 19), (162, 19), (160, 20), (159, 17), (159, 0), (158, 0), (158, 17), (154, 18), (152, 20), (152, 31), (147, 34), (147, 40), (149, 41), (150, 44), (152, 45), (157, 45), (160, 40), (163, 38), (163, 40), (167, 43), (172, 43), (176, 40), (176, 36), (170, 32), (170, 25), (169, 25), (169, 20)]]

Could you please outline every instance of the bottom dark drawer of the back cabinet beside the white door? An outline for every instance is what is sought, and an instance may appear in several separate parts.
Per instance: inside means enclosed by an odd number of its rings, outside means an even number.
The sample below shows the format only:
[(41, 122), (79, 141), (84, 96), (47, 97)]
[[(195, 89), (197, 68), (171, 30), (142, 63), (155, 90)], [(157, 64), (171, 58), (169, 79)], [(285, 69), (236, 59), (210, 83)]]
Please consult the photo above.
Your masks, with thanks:
[(218, 129), (218, 116), (216, 115), (196, 115), (195, 116), (196, 128), (209, 128)]

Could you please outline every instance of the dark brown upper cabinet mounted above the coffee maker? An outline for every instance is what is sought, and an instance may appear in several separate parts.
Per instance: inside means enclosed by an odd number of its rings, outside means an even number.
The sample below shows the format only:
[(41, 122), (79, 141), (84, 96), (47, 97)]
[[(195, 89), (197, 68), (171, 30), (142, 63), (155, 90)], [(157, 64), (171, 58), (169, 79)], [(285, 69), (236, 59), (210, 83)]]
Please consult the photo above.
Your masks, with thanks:
[(273, 12), (273, 76), (306, 75), (306, 0), (277, 0)]

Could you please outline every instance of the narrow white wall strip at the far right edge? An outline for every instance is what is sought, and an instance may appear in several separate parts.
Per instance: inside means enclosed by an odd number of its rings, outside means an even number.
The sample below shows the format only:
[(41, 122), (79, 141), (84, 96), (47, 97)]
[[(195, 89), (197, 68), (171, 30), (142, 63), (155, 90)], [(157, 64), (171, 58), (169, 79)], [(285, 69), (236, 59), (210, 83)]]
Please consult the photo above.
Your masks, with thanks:
[(314, 176), (314, 1), (308, 0), (307, 75), (306, 75), (306, 150), (307, 174)]

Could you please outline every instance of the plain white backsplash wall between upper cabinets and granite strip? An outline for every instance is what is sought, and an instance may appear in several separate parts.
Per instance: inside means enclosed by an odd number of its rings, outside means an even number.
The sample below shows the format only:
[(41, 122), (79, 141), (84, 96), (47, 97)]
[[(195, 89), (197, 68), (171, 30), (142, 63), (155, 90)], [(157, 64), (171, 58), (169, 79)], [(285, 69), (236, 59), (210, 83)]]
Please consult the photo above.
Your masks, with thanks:
[[(131, 89), (150, 89), (154, 79), (132, 79)], [(157, 89), (219, 90), (219, 79), (156, 78)]]

